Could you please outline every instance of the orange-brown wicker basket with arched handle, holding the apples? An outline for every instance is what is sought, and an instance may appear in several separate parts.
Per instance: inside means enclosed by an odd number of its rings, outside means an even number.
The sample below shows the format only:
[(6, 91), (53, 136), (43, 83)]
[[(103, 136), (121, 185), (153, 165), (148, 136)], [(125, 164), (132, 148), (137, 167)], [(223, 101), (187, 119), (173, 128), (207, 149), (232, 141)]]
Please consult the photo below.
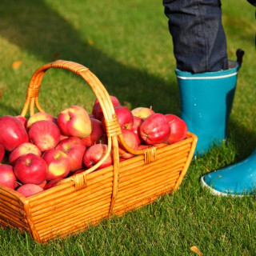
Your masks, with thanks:
[[(154, 202), (158, 196), (177, 190), (193, 158), (197, 137), (190, 132), (182, 142), (162, 144), (145, 150), (131, 150), (122, 138), (121, 128), (102, 83), (88, 68), (75, 62), (58, 60), (36, 70), (30, 79), (22, 116), (34, 108), (43, 111), (38, 102), (42, 77), (50, 68), (70, 70), (80, 75), (94, 91), (106, 119), (108, 154), (114, 164), (94, 171), (98, 165), (65, 178), (58, 186), (28, 198), (0, 185), (0, 225), (30, 233), (38, 242), (74, 234), (96, 224), (111, 214)], [(118, 138), (134, 158), (119, 162)], [(111, 153), (112, 152), (112, 153)], [(104, 161), (104, 159), (102, 159)]]

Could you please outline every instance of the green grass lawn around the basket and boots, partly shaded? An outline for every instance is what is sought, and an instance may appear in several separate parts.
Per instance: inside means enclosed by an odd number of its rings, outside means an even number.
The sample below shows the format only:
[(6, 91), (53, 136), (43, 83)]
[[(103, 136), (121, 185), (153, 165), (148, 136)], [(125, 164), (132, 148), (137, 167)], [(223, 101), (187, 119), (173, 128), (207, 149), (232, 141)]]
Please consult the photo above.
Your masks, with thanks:
[[(216, 197), (199, 182), (202, 174), (246, 158), (256, 145), (254, 10), (244, 0), (222, 1), (229, 57), (235, 59), (238, 48), (246, 51), (229, 136), (193, 160), (177, 193), (47, 245), (0, 230), (0, 255), (195, 255), (190, 246), (203, 255), (255, 255), (255, 197)], [(34, 70), (56, 58), (88, 66), (122, 103), (179, 114), (161, 1), (2, 0), (0, 50), (0, 115), (20, 114)], [(22, 65), (13, 69), (16, 61)], [(64, 70), (47, 71), (39, 94), (50, 114), (70, 105), (90, 111), (94, 99), (81, 78)]]

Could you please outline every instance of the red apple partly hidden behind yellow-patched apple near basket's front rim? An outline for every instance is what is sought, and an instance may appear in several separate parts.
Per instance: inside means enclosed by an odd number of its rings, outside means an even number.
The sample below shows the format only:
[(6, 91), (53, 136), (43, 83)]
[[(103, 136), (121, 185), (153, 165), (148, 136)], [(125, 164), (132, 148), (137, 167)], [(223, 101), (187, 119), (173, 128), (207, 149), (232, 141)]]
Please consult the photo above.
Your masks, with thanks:
[(70, 159), (70, 171), (82, 168), (82, 158), (86, 151), (81, 138), (69, 137), (64, 138), (55, 147), (56, 150), (62, 150)]

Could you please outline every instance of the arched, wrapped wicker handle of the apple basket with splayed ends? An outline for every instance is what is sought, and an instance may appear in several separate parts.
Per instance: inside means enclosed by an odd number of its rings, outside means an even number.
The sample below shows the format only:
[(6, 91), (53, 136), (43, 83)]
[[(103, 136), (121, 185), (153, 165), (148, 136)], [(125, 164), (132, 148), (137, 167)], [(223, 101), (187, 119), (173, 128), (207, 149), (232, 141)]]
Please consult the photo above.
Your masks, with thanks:
[[(81, 64), (78, 64), (76, 62), (57, 60), (55, 62), (50, 62), (40, 67), (38, 70), (34, 72), (32, 78), (30, 79), (30, 84), (26, 92), (26, 102), (23, 106), (23, 110), (21, 114), (23, 117), (26, 116), (26, 113), (29, 107), (30, 107), (30, 116), (34, 114), (34, 104), (39, 111), (45, 112), (39, 104), (38, 94), (39, 94), (40, 86), (42, 83), (42, 77), (46, 73), (46, 71), (49, 70), (50, 68), (70, 70), (74, 74), (78, 74), (79, 76), (81, 76), (89, 84), (91, 89), (94, 91), (94, 94), (98, 98), (100, 105), (102, 106), (102, 112), (104, 114), (105, 122), (106, 122), (106, 134), (108, 135), (108, 138), (117, 135), (120, 142), (122, 143), (122, 146), (124, 146), (124, 148), (130, 154), (146, 154), (147, 155), (146, 158), (155, 159), (154, 149), (153, 150), (133, 150), (126, 144), (124, 138), (122, 137), (121, 127), (119, 126), (116, 114), (114, 112), (113, 103), (110, 99), (110, 95), (106, 91), (106, 88), (102, 85), (102, 82), (100, 82), (99, 79), (92, 72), (90, 72), (89, 68), (87, 68), (86, 66), (82, 66)], [(108, 145), (109, 145), (109, 142), (108, 142)], [(110, 152), (110, 148), (108, 149), (108, 151)], [(93, 170), (96, 170), (98, 166), (100, 166), (100, 164), (104, 162), (105, 159), (106, 158), (102, 159), (102, 161), (98, 163), (97, 166), (92, 167), (93, 169), (91, 169), (90, 171), (88, 170), (88, 173)]]

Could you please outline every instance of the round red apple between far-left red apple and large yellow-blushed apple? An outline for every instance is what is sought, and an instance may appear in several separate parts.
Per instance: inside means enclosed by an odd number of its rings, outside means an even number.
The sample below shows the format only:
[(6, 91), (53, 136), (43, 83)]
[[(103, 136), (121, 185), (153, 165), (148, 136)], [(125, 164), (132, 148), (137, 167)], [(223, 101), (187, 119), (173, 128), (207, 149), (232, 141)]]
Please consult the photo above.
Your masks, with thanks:
[(42, 152), (53, 149), (58, 144), (60, 135), (58, 126), (46, 120), (34, 122), (29, 130), (30, 142)]

